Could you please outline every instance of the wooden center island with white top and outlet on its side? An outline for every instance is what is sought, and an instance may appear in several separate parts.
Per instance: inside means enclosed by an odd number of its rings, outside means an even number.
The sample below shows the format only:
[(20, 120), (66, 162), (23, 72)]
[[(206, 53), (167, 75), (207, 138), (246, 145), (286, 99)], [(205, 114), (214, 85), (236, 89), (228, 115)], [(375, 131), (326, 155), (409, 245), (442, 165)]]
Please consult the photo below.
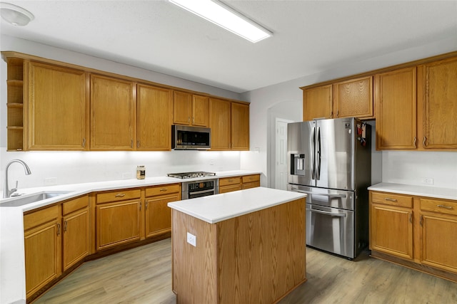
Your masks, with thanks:
[(257, 187), (169, 203), (176, 303), (276, 303), (304, 283), (305, 197)]

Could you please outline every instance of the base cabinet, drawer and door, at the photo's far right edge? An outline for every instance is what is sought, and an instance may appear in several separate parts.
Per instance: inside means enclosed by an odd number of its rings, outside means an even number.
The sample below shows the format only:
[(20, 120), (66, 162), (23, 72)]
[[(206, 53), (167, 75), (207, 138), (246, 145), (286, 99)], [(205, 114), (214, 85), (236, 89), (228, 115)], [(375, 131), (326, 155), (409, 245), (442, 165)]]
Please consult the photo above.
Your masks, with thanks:
[(457, 201), (419, 199), (421, 263), (457, 273)]

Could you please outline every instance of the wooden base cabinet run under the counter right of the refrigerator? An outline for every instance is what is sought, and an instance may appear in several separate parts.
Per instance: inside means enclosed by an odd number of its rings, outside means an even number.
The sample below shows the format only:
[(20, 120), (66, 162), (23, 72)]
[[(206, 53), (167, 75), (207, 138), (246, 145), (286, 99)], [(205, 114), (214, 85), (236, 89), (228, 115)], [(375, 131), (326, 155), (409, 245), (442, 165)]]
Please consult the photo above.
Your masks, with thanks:
[(456, 236), (457, 201), (370, 192), (372, 256), (457, 282)]

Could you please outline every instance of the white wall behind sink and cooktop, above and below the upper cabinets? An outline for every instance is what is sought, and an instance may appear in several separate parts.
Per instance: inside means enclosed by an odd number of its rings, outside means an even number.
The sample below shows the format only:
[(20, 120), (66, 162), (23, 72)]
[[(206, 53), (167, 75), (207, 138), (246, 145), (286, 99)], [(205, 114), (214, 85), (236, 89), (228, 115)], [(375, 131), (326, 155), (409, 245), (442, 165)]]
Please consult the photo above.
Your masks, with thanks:
[[(0, 50), (17, 51), (179, 88), (240, 99), (238, 93), (228, 90), (11, 36), (1, 36)], [(146, 177), (165, 176), (166, 173), (172, 172), (240, 169), (241, 152), (6, 152), (6, 96), (6, 63), (0, 61), (0, 183), (4, 182), (4, 169), (11, 159), (23, 159), (29, 164), (32, 172), (31, 175), (25, 176), (20, 164), (11, 164), (10, 187), (14, 186), (12, 183), (16, 180), (19, 180), (20, 189), (41, 187), (45, 184), (135, 178), (136, 166), (141, 164), (146, 165)]]

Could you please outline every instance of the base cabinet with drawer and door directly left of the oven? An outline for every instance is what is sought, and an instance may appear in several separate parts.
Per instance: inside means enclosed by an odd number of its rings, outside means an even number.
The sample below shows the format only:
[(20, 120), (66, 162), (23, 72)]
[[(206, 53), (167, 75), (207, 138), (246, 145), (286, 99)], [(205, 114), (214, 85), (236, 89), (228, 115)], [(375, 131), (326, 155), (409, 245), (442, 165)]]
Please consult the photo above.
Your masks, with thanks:
[(167, 204), (181, 200), (181, 184), (146, 188), (146, 238), (171, 231), (171, 209)]

